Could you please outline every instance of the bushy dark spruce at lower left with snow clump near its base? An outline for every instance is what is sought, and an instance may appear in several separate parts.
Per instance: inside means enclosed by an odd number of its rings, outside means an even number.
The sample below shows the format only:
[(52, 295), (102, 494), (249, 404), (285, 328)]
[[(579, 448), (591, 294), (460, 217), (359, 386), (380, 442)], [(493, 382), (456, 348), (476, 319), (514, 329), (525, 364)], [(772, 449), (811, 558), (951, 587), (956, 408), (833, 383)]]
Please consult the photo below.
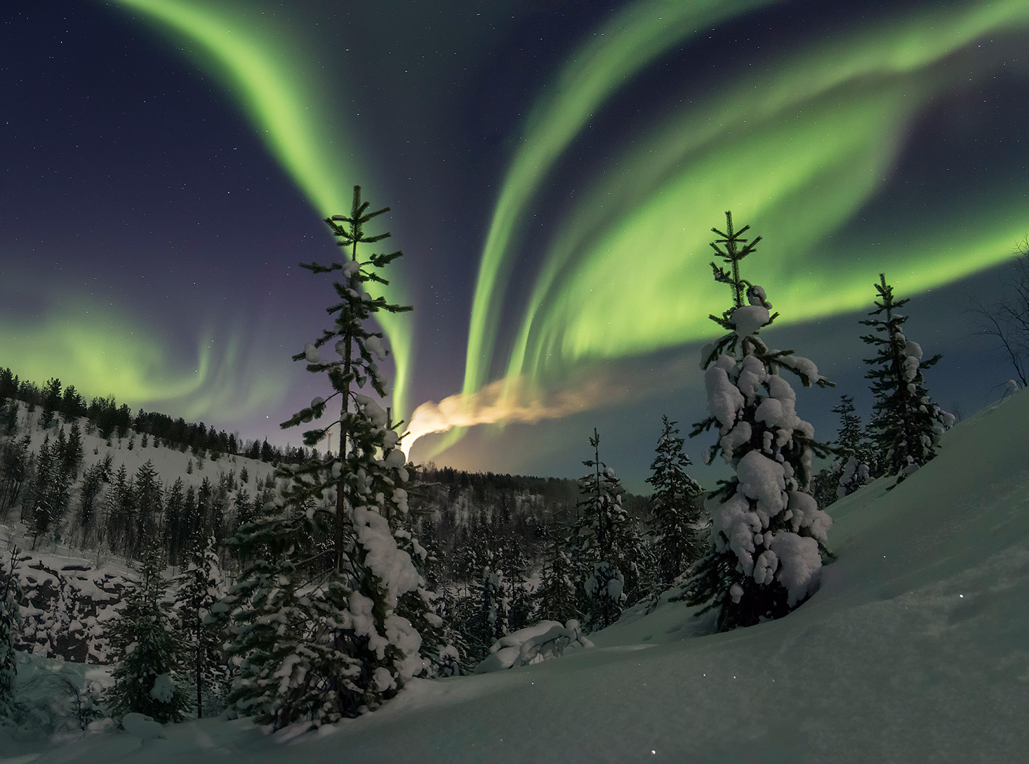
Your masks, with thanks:
[(112, 716), (145, 714), (157, 722), (181, 722), (190, 708), (180, 670), (184, 645), (164, 604), (165, 556), (158, 540), (143, 549), (140, 586), (126, 597), (120, 616), (109, 626), (117, 663), (108, 693)]

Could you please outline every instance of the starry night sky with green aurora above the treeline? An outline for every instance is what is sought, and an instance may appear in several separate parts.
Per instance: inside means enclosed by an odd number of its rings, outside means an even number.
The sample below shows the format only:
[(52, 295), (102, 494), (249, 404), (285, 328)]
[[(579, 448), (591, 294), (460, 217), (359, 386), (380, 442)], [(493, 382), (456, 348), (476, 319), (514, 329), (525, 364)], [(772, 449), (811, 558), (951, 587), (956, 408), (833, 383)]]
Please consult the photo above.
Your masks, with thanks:
[[(392, 231), (416, 461), (645, 489), (704, 415), (712, 226), (764, 237), (767, 341), (871, 395), (880, 271), (969, 414), (1012, 372), (963, 310), (1029, 232), (1029, 3), (33, 0), (0, 9), (0, 366), (243, 438), (325, 394), (322, 218)], [(384, 247), (386, 248), (386, 247)], [(795, 387), (800, 387), (796, 385)], [(434, 404), (442, 403), (437, 407)], [(488, 424), (480, 424), (488, 423)], [(711, 436), (687, 442), (697, 459)], [(410, 441), (409, 441), (410, 442)], [(708, 468), (696, 475), (707, 480)]]

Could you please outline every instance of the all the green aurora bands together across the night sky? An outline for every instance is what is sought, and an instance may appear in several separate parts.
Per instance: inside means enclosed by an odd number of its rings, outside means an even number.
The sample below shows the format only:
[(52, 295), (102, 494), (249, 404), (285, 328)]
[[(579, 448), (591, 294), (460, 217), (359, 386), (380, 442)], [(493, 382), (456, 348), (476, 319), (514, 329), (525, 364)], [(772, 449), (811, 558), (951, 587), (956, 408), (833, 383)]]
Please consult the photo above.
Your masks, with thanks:
[[(117, 4), (221, 85), (318, 216), (346, 210), (355, 182), (377, 198), (357, 131), (333, 106), (355, 83), (329, 81), (308, 57), (298, 25), (240, 0)], [(908, 134), (933, 99), (1004, 65), (1003, 44), (977, 43), (1008, 44), (1029, 27), (1024, 0), (964, 1), (896, 11), (830, 42), (770, 57), (760, 71), (721, 81), (654, 120), (619, 153), (596, 162), (594, 180), (561, 211), (553, 233), (532, 243), (538, 266), (528, 297), (505, 304), (513, 261), (528, 249), (533, 205), (596, 115), (662, 56), (773, 4), (647, 0), (583, 35), (531, 109), (502, 179), (472, 297), (465, 396), (497, 373), (495, 359), (506, 361), (499, 368), (510, 395), (532, 400), (591, 361), (708, 336), (707, 316), (721, 310), (724, 294), (710, 279), (707, 242), (726, 209), (765, 237), (767, 256), (751, 276), (784, 322), (863, 307), (881, 269), (912, 294), (1009, 256), (1029, 227), (1022, 189), (994, 189), (989, 206), (948, 211), (943, 227), (913, 225), (877, 246), (874, 257), (833, 238), (887, 186)], [(386, 296), (405, 302), (403, 292), (394, 282)], [(514, 321), (502, 347), (505, 316)], [(396, 367), (393, 405), (409, 412), (413, 319), (382, 321)], [(224, 391), (239, 341), (217, 354), (209, 338), (198, 347), (197, 370), (173, 372), (155, 333), (94, 302), (4, 327), (0, 339), (0, 353), (27, 377), (57, 370), (83, 392), (187, 400), (191, 415), (242, 412), (281, 394), (285, 368), (256, 374), (249, 393), (233, 398)], [(459, 437), (453, 431), (439, 447)]]

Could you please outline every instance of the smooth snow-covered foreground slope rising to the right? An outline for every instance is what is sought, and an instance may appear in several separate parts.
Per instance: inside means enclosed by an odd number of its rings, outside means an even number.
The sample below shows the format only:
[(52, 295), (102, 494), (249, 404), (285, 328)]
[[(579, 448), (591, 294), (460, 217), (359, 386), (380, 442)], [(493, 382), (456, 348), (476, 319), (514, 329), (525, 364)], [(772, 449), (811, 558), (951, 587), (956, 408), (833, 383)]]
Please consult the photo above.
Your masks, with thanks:
[[(2, 764), (1017, 762), (1029, 751), (1029, 395), (963, 422), (894, 490), (830, 508), (839, 560), (788, 617), (723, 634), (681, 604), (592, 650), (417, 681), (316, 733), (0, 732)], [(36, 660), (36, 659), (34, 659)]]

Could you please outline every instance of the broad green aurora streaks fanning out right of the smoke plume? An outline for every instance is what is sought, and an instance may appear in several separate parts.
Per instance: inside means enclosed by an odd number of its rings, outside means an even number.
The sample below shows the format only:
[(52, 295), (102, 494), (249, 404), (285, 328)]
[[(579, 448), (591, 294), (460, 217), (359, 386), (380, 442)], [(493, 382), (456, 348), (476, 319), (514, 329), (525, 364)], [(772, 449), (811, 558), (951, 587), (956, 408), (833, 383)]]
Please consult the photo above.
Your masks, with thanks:
[[(632, 10), (637, 24), (609, 25), (561, 78), (566, 84), (593, 77), (603, 85), (559, 87), (566, 103), (547, 101), (534, 111), (512, 160), (480, 268), (465, 394), (477, 390), (489, 370), (503, 293), (499, 282), (509, 268), (518, 215), (574, 133), (647, 62), (641, 53), (627, 53), (646, 48), (648, 35), (658, 37), (659, 28), (644, 17), (668, 15), (668, 6), (657, 3)], [(1029, 214), (1014, 201), (963, 211), (935, 234), (887, 241), (874, 253), (845, 251), (827, 237), (888, 179), (902, 138), (927, 101), (991, 66), (990, 57), (954, 54), (984, 35), (1027, 27), (1029, 4), (1022, 0), (895, 16), (785, 56), (767, 72), (720, 86), (649, 135), (634, 136), (633, 147), (577, 194), (576, 207), (544, 244), (508, 379), (521, 384), (527, 373), (538, 381), (547, 367), (643, 353), (711, 333), (707, 316), (721, 311), (724, 294), (710, 278), (707, 242), (728, 209), (765, 237), (769, 255), (748, 276), (768, 289), (784, 321), (866, 305), (868, 285), (882, 269), (910, 294), (1008, 257), (1029, 225)], [(679, 28), (677, 39), (691, 31)], [(668, 44), (653, 47), (660, 52)], [(594, 65), (600, 61), (610, 66)], [(579, 100), (586, 108), (577, 108)]]

